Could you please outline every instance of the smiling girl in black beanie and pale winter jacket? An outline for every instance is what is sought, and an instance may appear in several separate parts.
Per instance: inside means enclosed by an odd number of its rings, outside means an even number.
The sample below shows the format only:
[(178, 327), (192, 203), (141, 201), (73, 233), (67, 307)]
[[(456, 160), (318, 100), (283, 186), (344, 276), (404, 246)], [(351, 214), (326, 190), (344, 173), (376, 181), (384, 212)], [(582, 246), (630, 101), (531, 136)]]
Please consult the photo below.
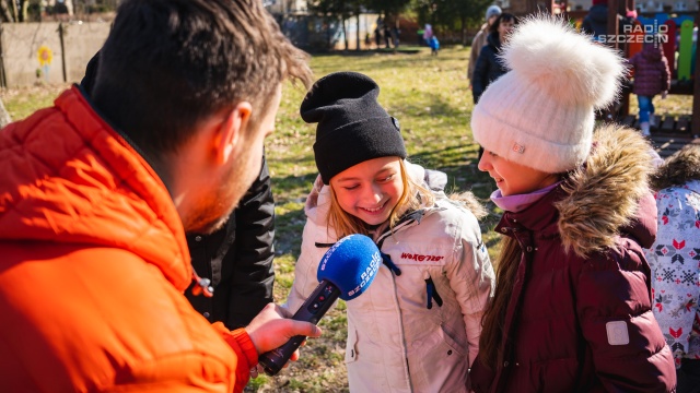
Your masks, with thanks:
[(346, 365), (351, 392), (466, 392), (478, 353), (493, 269), (470, 193), (447, 198), (445, 174), (406, 160), (398, 120), (366, 75), (317, 81), (301, 105), (317, 123), (319, 176), (288, 298), (295, 311), (314, 290), (322, 257), (338, 239), (374, 239), (384, 264), (348, 301)]

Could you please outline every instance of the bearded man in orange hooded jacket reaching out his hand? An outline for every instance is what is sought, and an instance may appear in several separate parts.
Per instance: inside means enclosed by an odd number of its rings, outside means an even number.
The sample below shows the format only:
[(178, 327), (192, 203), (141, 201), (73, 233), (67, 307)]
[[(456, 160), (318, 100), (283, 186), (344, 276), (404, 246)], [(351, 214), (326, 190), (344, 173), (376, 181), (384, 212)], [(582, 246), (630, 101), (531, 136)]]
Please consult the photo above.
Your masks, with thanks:
[(0, 131), (0, 386), (241, 392), (258, 354), (318, 336), (268, 305), (209, 324), (185, 231), (224, 224), (306, 56), (259, 1), (126, 0), (90, 97)]

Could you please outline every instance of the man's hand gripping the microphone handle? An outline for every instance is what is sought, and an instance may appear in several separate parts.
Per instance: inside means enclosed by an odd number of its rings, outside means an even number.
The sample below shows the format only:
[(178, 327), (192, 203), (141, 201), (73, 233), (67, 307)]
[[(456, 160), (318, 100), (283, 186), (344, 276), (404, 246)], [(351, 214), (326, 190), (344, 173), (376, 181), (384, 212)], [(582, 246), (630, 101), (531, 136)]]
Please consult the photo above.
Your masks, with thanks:
[[(268, 303), (245, 327), (258, 354), (265, 354), (287, 343), (295, 335), (320, 336), (320, 327), (311, 322), (294, 321), (289, 311)], [(292, 356), (292, 360), (298, 356)]]

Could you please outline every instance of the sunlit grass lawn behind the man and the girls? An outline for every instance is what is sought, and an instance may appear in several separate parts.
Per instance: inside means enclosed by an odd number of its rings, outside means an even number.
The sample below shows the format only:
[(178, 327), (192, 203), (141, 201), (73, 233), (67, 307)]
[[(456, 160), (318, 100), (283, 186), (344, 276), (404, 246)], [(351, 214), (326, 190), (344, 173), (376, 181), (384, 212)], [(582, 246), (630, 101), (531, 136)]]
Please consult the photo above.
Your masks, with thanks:
[[(477, 169), (477, 145), (469, 129), (471, 92), (466, 79), (469, 48), (447, 47), (439, 56), (428, 48), (408, 47), (406, 52), (350, 52), (316, 56), (312, 68), (316, 78), (335, 71), (358, 71), (381, 86), (380, 103), (401, 124), (409, 159), (448, 175), (454, 191), (471, 190), (485, 203), (494, 189), (488, 175)], [(13, 119), (22, 119), (35, 109), (49, 106), (66, 86), (38, 86), (0, 92)], [(291, 84), (284, 88), (277, 130), (267, 141), (267, 154), (277, 202), (276, 289), (283, 302), (293, 281), (304, 226), (304, 200), (316, 177), (313, 157), (315, 129), (299, 116), (305, 92)], [(657, 114), (690, 112), (691, 100), (672, 97), (657, 105)], [(633, 106), (635, 100), (633, 100)], [(631, 108), (635, 111), (635, 107)], [(499, 212), (489, 203), (491, 214), (482, 222), (482, 233), (493, 257), (499, 238), (490, 229)], [(252, 380), (247, 392), (346, 392), (343, 365), (345, 302), (320, 322), (324, 336), (308, 341), (299, 361), (270, 378)]]

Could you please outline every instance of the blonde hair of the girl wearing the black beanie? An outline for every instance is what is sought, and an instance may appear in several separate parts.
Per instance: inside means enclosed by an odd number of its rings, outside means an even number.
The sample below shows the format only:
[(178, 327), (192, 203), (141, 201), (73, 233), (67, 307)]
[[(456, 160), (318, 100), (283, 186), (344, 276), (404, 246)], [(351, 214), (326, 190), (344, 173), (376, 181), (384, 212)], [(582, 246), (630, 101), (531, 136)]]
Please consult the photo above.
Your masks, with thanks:
[[(399, 159), (401, 180), (404, 182), (404, 192), (398, 199), (396, 206), (389, 214), (389, 228), (394, 229), (394, 226), (404, 216), (406, 212), (419, 210), (421, 207), (430, 207), (435, 204), (435, 196), (433, 192), (424, 186), (416, 182), (406, 169), (406, 163)], [(369, 235), (369, 230), (364, 222), (352, 214), (343, 211), (338, 203), (338, 198), (332, 189), (330, 189), (330, 209), (328, 210), (327, 222), (328, 225), (336, 229), (338, 239), (352, 234)]]

